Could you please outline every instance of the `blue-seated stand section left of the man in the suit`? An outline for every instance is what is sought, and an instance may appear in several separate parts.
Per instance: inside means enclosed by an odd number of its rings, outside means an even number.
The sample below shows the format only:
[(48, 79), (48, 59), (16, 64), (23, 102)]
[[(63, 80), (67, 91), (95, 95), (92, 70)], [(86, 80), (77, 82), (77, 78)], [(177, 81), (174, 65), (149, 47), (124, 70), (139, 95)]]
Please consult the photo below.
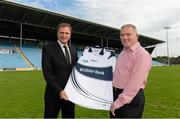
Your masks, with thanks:
[(36, 44), (19, 48), (11, 40), (0, 39), (0, 69), (41, 69), (41, 51)]

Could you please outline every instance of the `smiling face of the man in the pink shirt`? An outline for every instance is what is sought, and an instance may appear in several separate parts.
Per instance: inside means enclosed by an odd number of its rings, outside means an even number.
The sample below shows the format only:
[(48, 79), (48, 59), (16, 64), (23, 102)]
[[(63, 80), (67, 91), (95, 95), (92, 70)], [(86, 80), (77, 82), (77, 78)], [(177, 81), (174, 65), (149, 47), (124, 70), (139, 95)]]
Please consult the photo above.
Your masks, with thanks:
[(138, 42), (138, 34), (132, 27), (124, 27), (120, 32), (120, 39), (125, 48), (130, 48)]

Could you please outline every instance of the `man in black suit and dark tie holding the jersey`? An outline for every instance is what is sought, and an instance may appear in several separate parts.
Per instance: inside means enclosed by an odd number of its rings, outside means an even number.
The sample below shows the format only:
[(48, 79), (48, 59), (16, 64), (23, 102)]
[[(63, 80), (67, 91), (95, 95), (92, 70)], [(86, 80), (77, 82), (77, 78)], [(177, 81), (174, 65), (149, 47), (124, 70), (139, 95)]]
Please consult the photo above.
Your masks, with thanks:
[(47, 44), (42, 51), (42, 70), (46, 80), (44, 118), (74, 118), (75, 104), (68, 101), (64, 87), (77, 61), (77, 51), (68, 45), (71, 38), (70, 24), (57, 26), (57, 42)]

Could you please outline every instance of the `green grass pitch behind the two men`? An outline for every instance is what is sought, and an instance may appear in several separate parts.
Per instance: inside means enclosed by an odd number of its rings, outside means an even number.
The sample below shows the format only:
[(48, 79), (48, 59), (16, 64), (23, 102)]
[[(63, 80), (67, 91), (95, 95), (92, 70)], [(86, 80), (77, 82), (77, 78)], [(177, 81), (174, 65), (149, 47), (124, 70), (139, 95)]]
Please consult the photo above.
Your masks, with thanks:
[[(42, 118), (41, 71), (0, 72), (0, 118)], [(180, 66), (153, 67), (145, 89), (144, 118), (180, 118)], [(76, 106), (77, 118), (109, 118), (108, 111)]]

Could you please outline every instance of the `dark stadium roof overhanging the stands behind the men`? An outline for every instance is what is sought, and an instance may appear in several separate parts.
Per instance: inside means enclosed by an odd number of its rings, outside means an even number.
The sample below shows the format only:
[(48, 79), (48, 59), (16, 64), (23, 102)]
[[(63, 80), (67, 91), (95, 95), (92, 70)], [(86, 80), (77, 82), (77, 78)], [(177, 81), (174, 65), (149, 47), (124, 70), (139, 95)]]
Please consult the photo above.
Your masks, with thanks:
[[(19, 37), (22, 28), (23, 38), (56, 40), (56, 26), (60, 22), (72, 25), (72, 42), (102, 44), (103, 40), (103, 46), (108, 44), (109, 47), (122, 48), (117, 28), (6, 0), (0, 1), (0, 35)], [(139, 41), (144, 47), (164, 42), (144, 35), (140, 35)]]

